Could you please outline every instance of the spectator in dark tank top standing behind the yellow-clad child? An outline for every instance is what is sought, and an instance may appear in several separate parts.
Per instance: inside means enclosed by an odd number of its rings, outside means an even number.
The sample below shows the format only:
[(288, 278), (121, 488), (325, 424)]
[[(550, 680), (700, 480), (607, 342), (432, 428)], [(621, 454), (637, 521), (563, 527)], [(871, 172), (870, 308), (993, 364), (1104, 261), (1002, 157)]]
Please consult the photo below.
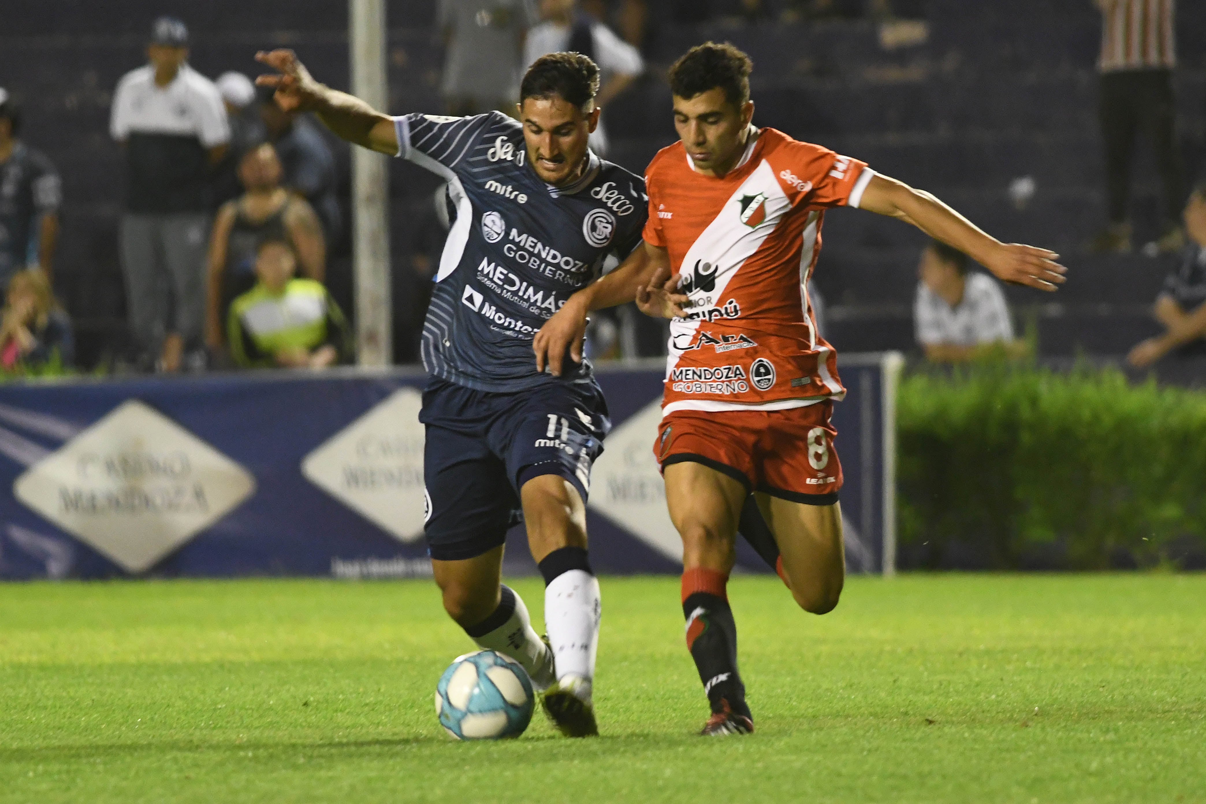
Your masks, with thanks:
[(230, 303), (256, 284), (262, 241), (288, 242), (306, 278), (322, 282), (326, 272), (322, 224), (304, 198), (281, 187), (281, 163), (271, 143), (241, 154), (239, 180), (247, 192), (222, 205), (210, 236), (205, 344), (212, 351), (223, 345), (222, 322)]

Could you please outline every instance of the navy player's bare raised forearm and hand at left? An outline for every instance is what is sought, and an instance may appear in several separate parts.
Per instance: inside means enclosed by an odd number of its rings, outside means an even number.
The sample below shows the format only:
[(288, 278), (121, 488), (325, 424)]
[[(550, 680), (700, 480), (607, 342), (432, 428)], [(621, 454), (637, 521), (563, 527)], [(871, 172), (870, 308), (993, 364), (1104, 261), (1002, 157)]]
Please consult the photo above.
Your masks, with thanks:
[(314, 112), (340, 139), (387, 153), (398, 153), (393, 119), (359, 98), (318, 83), (289, 49), (256, 53), (256, 60), (277, 71), (256, 78), (260, 87), (276, 89), (276, 105), (287, 112)]

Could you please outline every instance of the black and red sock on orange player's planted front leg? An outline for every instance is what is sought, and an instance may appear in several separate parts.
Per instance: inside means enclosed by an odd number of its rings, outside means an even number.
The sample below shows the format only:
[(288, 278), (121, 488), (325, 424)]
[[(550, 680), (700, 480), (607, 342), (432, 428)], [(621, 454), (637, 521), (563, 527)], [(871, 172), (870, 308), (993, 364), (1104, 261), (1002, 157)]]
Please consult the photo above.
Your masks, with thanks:
[(683, 616), (686, 649), (691, 651), (699, 681), (713, 712), (728, 709), (750, 717), (745, 685), (737, 671), (737, 623), (725, 589), (728, 575), (696, 568), (683, 573)]

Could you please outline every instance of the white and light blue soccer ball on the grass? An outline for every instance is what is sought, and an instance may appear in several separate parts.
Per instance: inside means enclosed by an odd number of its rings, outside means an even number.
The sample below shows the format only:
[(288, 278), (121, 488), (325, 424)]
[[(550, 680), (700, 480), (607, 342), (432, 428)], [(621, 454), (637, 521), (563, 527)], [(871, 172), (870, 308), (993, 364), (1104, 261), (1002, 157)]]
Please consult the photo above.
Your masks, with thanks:
[(435, 715), (458, 740), (519, 736), (534, 703), (523, 668), (494, 651), (458, 656), (435, 686)]

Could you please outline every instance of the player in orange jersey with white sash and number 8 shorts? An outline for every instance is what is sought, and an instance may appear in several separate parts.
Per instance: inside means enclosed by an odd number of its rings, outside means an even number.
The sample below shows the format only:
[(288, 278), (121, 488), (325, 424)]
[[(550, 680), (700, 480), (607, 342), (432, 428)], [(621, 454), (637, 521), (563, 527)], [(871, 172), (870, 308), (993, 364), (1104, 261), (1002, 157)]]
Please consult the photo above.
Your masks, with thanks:
[(754, 730), (726, 594), (738, 530), (806, 611), (826, 614), (842, 593), (830, 415), (845, 389), (806, 291), (825, 210), (900, 218), (1007, 282), (1055, 291), (1065, 274), (1058, 254), (1002, 243), (857, 159), (754, 127), (751, 66), (732, 45), (709, 42), (671, 68), (680, 141), (646, 171), (644, 245), (570, 297), (533, 344), (538, 368), (558, 374), (567, 346), (581, 359), (591, 310), (636, 299), (672, 318), (654, 451), (683, 538), (683, 614), (712, 705), (708, 735)]

